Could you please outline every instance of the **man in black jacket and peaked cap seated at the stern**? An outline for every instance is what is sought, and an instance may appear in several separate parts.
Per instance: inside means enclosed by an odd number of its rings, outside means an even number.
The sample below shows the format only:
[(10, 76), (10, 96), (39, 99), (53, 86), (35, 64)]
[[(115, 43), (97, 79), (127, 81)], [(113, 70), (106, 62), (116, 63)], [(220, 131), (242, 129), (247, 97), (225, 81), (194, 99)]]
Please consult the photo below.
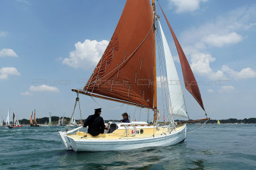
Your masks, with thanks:
[(101, 108), (95, 109), (94, 115), (90, 115), (86, 118), (83, 127), (88, 126), (88, 134), (92, 136), (98, 136), (99, 134), (104, 133), (104, 129), (108, 129), (105, 127), (104, 120), (100, 117)]

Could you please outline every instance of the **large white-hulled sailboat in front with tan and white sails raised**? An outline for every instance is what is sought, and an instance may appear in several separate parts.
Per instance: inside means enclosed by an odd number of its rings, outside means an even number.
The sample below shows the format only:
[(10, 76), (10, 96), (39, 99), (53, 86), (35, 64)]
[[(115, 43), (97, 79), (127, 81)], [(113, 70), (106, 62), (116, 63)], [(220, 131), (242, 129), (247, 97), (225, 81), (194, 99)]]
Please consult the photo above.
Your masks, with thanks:
[[(179, 54), (185, 87), (205, 111), (188, 60), (165, 15), (164, 18)], [(159, 64), (161, 77), (166, 76), (167, 80), (179, 81), (154, 0), (152, 5), (149, 0), (127, 0), (115, 32), (92, 76), (82, 89), (72, 89), (77, 93), (74, 110), (77, 103), (79, 104), (79, 94), (84, 94), (92, 98), (99, 97), (152, 110), (154, 120), (150, 124), (109, 122), (109, 129), (99, 136), (79, 131), (82, 127), (70, 130), (68, 125), (68, 131), (59, 132), (67, 150), (76, 152), (131, 150), (148, 146), (175, 145), (184, 141), (187, 132), (186, 122), (177, 124), (173, 119), (173, 116), (188, 118), (182, 87), (180, 83), (175, 84), (174, 87), (172, 83), (166, 85), (164, 78), (161, 78), (163, 87), (161, 89), (164, 91), (162, 96), (166, 96), (163, 102), (167, 105), (165, 109), (168, 110), (170, 123), (159, 124), (156, 51), (159, 57), (164, 57), (159, 59), (162, 61), (162, 64)], [(163, 74), (164, 72), (166, 74)], [(206, 112), (205, 116), (206, 118), (201, 120), (206, 122), (209, 120)]]

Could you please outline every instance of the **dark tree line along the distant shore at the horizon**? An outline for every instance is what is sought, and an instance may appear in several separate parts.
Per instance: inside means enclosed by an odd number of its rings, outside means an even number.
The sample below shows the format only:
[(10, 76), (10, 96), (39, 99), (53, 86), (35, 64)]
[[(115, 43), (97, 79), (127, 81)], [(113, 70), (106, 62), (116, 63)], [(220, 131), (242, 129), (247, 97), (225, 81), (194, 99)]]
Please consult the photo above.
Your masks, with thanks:
[[(51, 117), (52, 124), (58, 124), (59, 119), (62, 120), (62, 117)], [(67, 124), (70, 121), (69, 117), (64, 117), (65, 124)], [(79, 120), (77, 120), (79, 121)], [(106, 123), (108, 122), (116, 122), (118, 120), (105, 120)], [(23, 118), (22, 120), (19, 120), (20, 124), (29, 124), (29, 120), (26, 118)], [(49, 123), (48, 117), (43, 118), (36, 118), (36, 122), (38, 124), (45, 124), (45, 122)], [(84, 119), (83, 119), (84, 122)], [(175, 122), (186, 122), (186, 120), (175, 120)], [(207, 124), (217, 124), (218, 120), (210, 119), (208, 120)], [(195, 124), (198, 122), (194, 122)], [(237, 119), (237, 118), (228, 118), (220, 120), (221, 124), (256, 124), (256, 118), (244, 118), (244, 119)]]

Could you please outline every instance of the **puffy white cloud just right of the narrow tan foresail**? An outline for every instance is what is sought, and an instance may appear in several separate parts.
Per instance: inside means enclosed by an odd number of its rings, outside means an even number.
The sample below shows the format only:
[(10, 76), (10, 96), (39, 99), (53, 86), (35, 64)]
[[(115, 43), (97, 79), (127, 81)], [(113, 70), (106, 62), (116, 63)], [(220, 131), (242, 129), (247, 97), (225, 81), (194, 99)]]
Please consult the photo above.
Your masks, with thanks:
[(218, 70), (216, 72), (212, 71), (210, 67), (210, 62), (214, 62), (216, 59), (207, 53), (195, 53), (191, 55), (191, 69), (194, 73), (200, 74), (211, 80), (221, 80), (225, 79), (226, 76), (223, 71)]

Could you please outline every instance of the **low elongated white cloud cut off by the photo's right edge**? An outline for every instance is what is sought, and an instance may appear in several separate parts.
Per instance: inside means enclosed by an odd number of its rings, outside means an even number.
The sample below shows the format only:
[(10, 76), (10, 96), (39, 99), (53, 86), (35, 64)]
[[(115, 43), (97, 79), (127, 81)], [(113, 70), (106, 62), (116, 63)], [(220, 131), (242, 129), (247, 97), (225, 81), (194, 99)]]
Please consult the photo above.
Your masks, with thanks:
[(241, 71), (234, 71), (228, 66), (223, 65), (222, 70), (230, 75), (230, 77), (235, 78), (236, 80), (246, 79), (246, 78), (255, 78), (256, 72), (252, 68), (246, 67), (241, 69)]

